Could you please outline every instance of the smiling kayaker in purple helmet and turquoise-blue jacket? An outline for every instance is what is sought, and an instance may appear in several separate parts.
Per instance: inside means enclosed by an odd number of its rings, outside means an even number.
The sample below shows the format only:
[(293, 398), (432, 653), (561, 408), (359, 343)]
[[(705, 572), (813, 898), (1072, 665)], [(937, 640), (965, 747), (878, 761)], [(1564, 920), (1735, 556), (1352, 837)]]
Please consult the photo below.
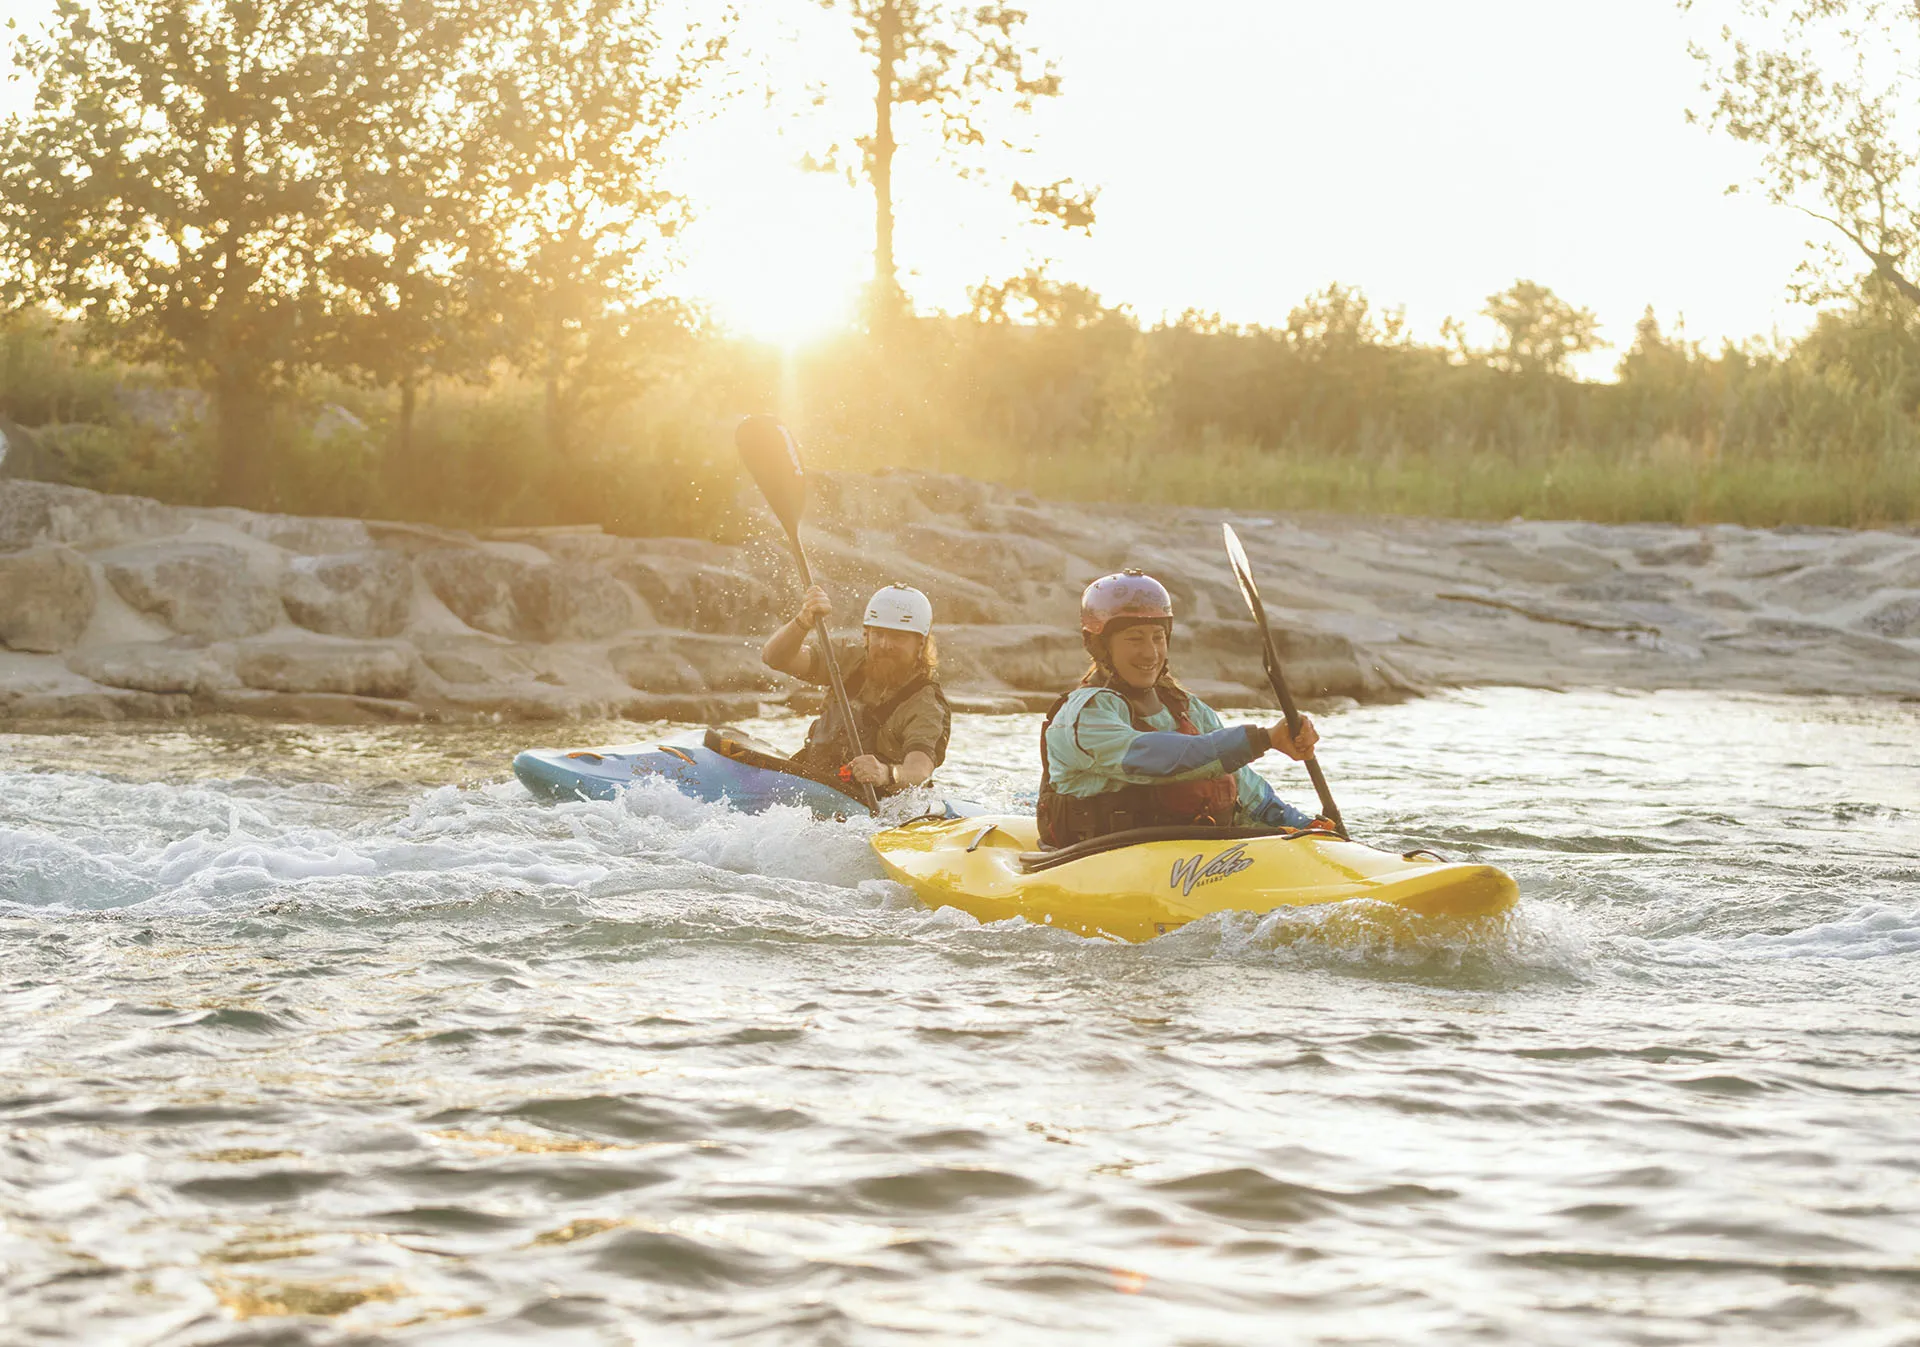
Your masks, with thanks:
[(1319, 731), (1300, 718), (1223, 725), (1167, 668), (1173, 597), (1152, 576), (1102, 576), (1081, 595), (1092, 668), (1041, 727), (1041, 846), (1071, 846), (1135, 827), (1273, 825), (1315, 819), (1281, 800), (1248, 764), (1277, 748), (1302, 760)]

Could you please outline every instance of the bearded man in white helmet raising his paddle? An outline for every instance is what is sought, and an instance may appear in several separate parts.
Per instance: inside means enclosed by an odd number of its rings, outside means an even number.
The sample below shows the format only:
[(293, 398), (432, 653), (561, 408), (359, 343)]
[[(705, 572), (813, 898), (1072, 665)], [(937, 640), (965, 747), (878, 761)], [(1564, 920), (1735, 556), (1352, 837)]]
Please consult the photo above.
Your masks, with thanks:
[[(806, 635), (831, 612), (828, 591), (808, 589), (793, 620), (768, 637), (760, 660), (770, 670), (826, 687), (826, 660)], [(862, 639), (833, 649), (864, 752), (854, 754), (852, 735), (829, 700), (806, 731), (806, 744), (793, 754), (793, 769), (841, 789), (851, 777), (879, 794), (925, 785), (947, 758), (952, 731), (952, 712), (939, 683), (933, 604), (912, 585), (877, 589), (866, 604)]]

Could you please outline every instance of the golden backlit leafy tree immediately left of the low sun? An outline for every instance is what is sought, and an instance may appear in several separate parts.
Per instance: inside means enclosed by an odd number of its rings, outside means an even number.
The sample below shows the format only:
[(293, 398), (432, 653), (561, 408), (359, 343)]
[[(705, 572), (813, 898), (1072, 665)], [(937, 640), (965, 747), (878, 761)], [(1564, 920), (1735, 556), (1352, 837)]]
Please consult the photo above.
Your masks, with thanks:
[(545, 390), (555, 464), (580, 418), (630, 391), (682, 309), (659, 295), (685, 203), (662, 180), (722, 35), (666, 36), (657, 0), (522, 0), (493, 36), (472, 190), (474, 284), (507, 355)]

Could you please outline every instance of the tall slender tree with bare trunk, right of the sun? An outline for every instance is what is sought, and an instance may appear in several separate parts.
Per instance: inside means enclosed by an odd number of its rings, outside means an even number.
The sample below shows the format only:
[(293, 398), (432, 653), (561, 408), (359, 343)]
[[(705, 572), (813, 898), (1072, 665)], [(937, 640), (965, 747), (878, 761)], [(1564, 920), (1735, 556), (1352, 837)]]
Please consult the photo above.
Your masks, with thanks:
[[(962, 175), (977, 171), (973, 152), (1018, 146), (989, 129), (996, 111), (1033, 111), (1037, 98), (1060, 94), (1060, 73), (1029, 46), (1027, 15), (1006, 4), (941, 0), (820, 0), (852, 21), (862, 54), (874, 61), (874, 130), (854, 144), (858, 171), (874, 188), (874, 282), (870, 307), (879, 320), (904, 313), (893, 253), (895, 109), (914, 107), (935, 121), (939, 148)], [(837, 157), (837, 155), (835, 155)], [(1089, 230), (1096, 190), (1071, 178), (1014, 182), (1012, 198), (1035, 219)]]

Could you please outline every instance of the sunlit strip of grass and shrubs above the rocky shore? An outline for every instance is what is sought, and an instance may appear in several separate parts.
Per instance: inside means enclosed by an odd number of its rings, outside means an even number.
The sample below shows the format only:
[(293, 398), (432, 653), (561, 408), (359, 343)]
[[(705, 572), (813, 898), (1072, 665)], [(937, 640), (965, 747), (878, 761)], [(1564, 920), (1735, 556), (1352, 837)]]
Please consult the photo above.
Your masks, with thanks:
[[(513, 376), (420, 390), (307, 380), (263, 430), (263, 497), (307, 514), (622, 533), (739, 528), (732, 424), (774, 409), (812, 464), (964, 472), (1046, 497), (1252, 510), (1828, 524), (1920, 520), (1920, 324), (1828, 315), (1791, 349), (1705, 353), (1649, 320), (1619, 378), (1411, 343), (1346, 292), (1288, 328), (1142, 330), (1098, 305), (927, 319), (781, 353), (684, 336), (557, 443)], [(1329, 317), (1331, 313), (1331, 317)], [(42, 476), (213, 503), (211, 439), (165, 370), (90, 359), (35, 315), (0, 328), (0, 414)]]

